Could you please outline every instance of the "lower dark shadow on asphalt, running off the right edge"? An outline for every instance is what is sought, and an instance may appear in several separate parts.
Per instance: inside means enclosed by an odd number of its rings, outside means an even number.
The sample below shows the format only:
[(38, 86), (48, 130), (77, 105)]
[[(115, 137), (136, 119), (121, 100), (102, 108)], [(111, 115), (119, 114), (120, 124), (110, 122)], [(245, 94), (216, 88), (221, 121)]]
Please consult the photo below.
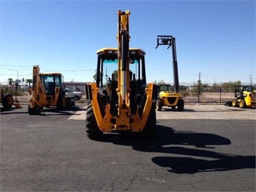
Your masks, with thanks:
[[(182, 153), (183, 149), (179, 149)], [(185, 151), (186, 152), (186, 149)], [(196, 150), (191, 150), (191, 153), (197, 155)], [(200, 153), (202, 153), (201, 151)], [(194, 174), (198, 172), (210, 172), (210, 171), (228, 171), (238, 169), (255, 169), (255, 156), (235, 156), (220, 153), (207, 153), (210, 151), (204, 151), (203, 155), (210, 155), (213, 158), (219, 158), (216, 160), (198, 159), (192, 157), (153, 157), (152, 161), (162, 167), (168, 167), (169, 172), (179, 174)], [(185, 153), (186, 154), (186, 153)]]

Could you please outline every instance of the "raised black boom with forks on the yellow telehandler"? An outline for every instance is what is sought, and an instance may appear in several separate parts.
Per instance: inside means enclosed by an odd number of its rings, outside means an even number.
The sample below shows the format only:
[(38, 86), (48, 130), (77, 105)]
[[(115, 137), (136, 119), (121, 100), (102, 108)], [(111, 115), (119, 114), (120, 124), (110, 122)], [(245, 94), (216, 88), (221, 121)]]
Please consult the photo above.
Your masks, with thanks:
[(179, 92), (179, 74), (178, 74), (178, 62), (176, 54), (176, 45), (175, 37), (171, 35), (157, 35), (157, 46), (159, 45), (169, 45), (167, 49), (172, 45), (172, 66), (173, 66), (173, 83), (174, 83), (174, 92)]

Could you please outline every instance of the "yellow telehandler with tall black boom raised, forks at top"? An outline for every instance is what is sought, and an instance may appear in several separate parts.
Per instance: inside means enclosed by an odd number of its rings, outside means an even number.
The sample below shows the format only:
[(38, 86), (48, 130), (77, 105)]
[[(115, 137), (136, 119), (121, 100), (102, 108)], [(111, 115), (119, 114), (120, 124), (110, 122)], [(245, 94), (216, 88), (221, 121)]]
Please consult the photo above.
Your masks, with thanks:
[(169, 45), (167, 49), (172, 46), (172, 66), (173, 66), (173, 80), (174, 80), (174, 91), (171, 91), (171, 85), (162, 84), (159, 85), (159, 93), (156, 102), (156, 110), (161, 111), (163, 106), (171, 107), (175, 109), (178, 108), (178, 111), (183, 111), (184, 101), (179, 92), (179, 75), (178, 75), (178, 62), (176, 55), (176, 45), (175, 37), (170, 35), (158, 35), (157, 36), (157, 46), (159, 45)]

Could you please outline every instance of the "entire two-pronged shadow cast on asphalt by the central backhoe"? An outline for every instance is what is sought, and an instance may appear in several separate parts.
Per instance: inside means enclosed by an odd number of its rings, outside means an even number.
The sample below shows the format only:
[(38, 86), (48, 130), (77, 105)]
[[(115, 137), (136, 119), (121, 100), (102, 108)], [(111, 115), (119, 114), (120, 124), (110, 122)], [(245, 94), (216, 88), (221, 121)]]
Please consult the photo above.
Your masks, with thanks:
[[(159, 166), (168, 167), (168, 171), (173, 173), (194, 174), (255, 168), (255, 156), (239, 156), (211, 151), (215, 148), (214, 146), (231, 144), (229, 139), (216, 134), (175, 131), (171, 127), (157, 125), (156, 138), (152, 141), (140, 137), (134, 138), (132, 135), (127, 137), (125, 134), (109, 133), (103, 136), (100, 140), (102, 142), (131, 146), (134, 150), (143, 152), (172, 155), (173, 157), (153, 157), (151, 160)], [(191, 146), (196, 148), (191, 148)], [(213, 158), (213, 160), (209, 160), (209, 158)]]

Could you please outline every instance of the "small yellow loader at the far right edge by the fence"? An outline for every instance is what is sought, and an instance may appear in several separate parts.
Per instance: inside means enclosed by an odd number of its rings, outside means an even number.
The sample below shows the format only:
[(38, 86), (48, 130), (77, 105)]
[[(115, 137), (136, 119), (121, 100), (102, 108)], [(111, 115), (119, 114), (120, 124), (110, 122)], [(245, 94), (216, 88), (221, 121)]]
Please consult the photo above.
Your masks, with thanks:
[(233, 107), (240, 108), (255, 108), (256, 91), (253, 90), (251, 85), (238, 85), (236, 86), (235, 98), (231, 102)]

